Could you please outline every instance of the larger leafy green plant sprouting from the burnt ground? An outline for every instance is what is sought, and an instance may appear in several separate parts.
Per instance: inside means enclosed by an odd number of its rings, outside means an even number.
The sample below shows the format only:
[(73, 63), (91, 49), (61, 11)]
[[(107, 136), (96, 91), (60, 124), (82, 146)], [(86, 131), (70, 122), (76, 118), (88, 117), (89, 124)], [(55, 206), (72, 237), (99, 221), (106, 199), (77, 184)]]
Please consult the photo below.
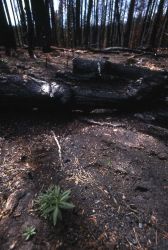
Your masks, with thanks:
[(62, 191), (59, 186), (51, 186), (46, 192), (40, 193), (35, 203), (37, 209), (45, 219), (57, 224), (62, 219), (62, 209), (72, 209), (74, 205), (69, 202), (70, 190)]

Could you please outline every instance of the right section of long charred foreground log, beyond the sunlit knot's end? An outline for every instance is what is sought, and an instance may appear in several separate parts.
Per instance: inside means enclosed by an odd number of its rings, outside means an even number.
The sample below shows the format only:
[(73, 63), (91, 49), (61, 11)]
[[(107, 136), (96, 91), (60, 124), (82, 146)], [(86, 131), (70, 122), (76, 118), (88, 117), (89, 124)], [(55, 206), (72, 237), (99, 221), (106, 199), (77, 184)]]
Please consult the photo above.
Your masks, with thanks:
[(127, 85), (112, 86), (73, 86), (73, 96), (79, 109), (117, 108), (122, 110), (148, 110), (163, 101), (167, 76), (149, 77), (130, 81)]

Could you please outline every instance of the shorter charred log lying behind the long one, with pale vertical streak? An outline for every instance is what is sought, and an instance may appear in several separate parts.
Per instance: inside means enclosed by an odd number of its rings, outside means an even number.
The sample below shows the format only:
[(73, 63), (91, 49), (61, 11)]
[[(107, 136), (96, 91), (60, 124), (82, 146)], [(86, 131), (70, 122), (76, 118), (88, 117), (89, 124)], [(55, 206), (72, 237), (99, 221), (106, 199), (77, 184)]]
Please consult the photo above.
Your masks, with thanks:
[(168, 72), (153, 71), (147, 68), (137, 66), (128, 66), (125, 64), (116, 64), (107, 60), (87, 60), (83, 58), (75, 58), (73, 60), (74, 75), (85, 76), (88, 78), (103, 79), (121, 78), (121, 79), (139, 79), (143, 77), (153, 77), (158, 75), (168, 75)]

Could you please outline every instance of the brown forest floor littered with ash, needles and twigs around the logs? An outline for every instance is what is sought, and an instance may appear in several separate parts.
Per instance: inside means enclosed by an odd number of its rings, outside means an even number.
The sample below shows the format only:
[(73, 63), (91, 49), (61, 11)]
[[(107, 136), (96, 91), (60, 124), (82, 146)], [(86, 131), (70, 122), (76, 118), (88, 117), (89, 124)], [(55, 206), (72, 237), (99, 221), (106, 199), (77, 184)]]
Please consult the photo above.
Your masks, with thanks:
[[(133, 54), (109, 54), (130, 63)], [(55, 80), (72, 70), (74, 53), (19, 50), (1, 53), (0, 73)], [(101, 54), (75, 52), (84, 58)], [(132, 59), (131, 59), (132, 60)], [(136, 57), (151, 69), (168, 68), (168, 59)], [(47, 67), (46, 67), (47, 66)], [(168, 125), (152, 114), (117, 111), (60, 115), (3, 113), (0, 116), (0, 249), (168, 249)], [(59, 140), (63, 164), (60, 164)], [(33, 201), (51, 184), (71, 189), (73, 211), (56, 227), (41, 218)], [(36, 228), (25, 241), (23, 231)]]

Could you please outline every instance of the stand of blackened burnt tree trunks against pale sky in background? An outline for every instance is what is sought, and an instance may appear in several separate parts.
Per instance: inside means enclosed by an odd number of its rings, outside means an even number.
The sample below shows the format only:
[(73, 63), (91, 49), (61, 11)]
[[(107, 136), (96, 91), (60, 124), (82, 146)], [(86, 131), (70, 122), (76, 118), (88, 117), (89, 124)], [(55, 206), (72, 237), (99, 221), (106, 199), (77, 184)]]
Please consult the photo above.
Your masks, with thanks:
[[(54, 0), (1, 0), (0, 4), (1, 30), (6, 25), (5, 36), (10, 33), (12, 46), (28, 45), (31, 56), (35, 46), (44, 52), (51, 45), (168, 46), (166, 0), (58, 0), (58, 6)], [(1, 40), (11, 46), (8, 39)]]

